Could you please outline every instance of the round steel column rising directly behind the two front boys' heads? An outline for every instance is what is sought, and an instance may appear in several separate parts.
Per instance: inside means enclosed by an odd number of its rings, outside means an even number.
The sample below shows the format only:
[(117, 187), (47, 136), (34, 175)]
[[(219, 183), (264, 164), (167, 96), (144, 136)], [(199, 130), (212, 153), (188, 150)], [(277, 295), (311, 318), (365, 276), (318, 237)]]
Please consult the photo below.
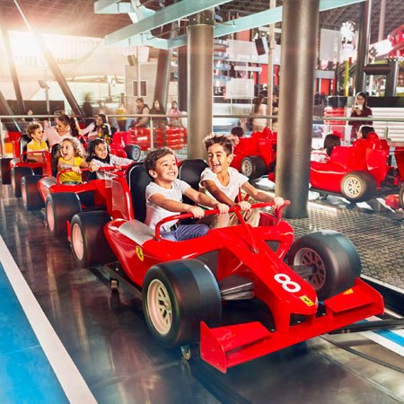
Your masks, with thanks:
[(188, 154), (205, 158), (202, 140), (212, 132), (214, 13), (191, 15), (188, 28)]

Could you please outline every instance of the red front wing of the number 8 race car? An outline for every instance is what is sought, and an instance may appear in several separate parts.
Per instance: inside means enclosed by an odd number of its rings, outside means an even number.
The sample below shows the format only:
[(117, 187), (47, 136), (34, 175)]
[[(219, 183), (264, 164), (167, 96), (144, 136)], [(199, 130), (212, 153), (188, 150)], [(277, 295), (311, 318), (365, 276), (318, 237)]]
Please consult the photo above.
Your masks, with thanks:
[(306, 339), (364, 320), (384, 310), (382, 295), (361, 279), (346, 292), (325, 300), (287, 332), (269, 331), (259, 321), (209, 329), (200, 325), (200, 356), (225, 373), (228, 368), (290, 347)]

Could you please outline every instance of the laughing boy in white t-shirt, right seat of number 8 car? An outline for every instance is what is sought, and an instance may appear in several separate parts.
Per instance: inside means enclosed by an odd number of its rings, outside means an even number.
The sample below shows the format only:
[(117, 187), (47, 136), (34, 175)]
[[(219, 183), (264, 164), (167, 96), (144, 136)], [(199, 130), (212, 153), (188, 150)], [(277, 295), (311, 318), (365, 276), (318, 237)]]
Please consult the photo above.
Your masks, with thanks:
[[(255, 189), (249, 179), (242, 175), (235, 168), (230, 167), (233, 160), (233, 142), (230, 136), (210, 135), (204, 139), (207, 151), (207, 162), (209, 167), (202, 171), (199, 182), (199, 189), (207, 191), (217, 201), (228, 206), (240, 206), (244, 220), (251, 226), (259, 224), (259, 210), (251, 209), (247, 201), (235, 202), (239, 189), (250, 195), (251, 198), (259, 202), (269, 202), (273, 198), (265, 192)], [(282, 206), (284, 199), (276, 197), (273, 199), (276, 206)], [(206, 216), (199, 223), (208, 224), (210, 228), (223, 227), (224, 225), (240, 224), (237, 215), (232, 212), (229, 215), (227, 224), (218, 223), (217, 217)]]

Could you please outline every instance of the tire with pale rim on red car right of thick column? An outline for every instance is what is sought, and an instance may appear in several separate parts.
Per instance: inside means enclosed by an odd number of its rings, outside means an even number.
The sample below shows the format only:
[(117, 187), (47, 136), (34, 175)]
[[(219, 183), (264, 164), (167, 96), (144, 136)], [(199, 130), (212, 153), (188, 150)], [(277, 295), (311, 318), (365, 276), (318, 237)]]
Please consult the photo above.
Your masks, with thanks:
[(352, 171), (341, 180), (341, 194), (350, 202), (363, 202), (376, 194), (376, 180), (366, 171)]

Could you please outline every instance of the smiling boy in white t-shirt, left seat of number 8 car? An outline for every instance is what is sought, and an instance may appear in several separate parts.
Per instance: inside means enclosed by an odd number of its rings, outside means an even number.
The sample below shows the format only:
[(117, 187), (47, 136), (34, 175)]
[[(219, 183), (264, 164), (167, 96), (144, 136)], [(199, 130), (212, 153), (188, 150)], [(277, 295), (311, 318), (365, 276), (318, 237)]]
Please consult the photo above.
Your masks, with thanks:
[[(145, 224), (152, 229), (163, 218), (178, 215), (180, 212), (189, 212), (196, 218), (205, 215), (201, 207), (184, 204), (183, 195), (198, 204), (219, 209), (222, 215), (229, 211), (229, 206), (192, 189), (187, 182), (178, 180), (177, 162), (170, 148), (162, 147), (150, 152), (144, 163), (145, 170), (154, 180), (145, 189)], [(179, 224), (178, 221), (171, 221), (162, 224), (161, 234), (164, 239), (180, 242), (205, 235), (208, 230), (206, 224)]]

